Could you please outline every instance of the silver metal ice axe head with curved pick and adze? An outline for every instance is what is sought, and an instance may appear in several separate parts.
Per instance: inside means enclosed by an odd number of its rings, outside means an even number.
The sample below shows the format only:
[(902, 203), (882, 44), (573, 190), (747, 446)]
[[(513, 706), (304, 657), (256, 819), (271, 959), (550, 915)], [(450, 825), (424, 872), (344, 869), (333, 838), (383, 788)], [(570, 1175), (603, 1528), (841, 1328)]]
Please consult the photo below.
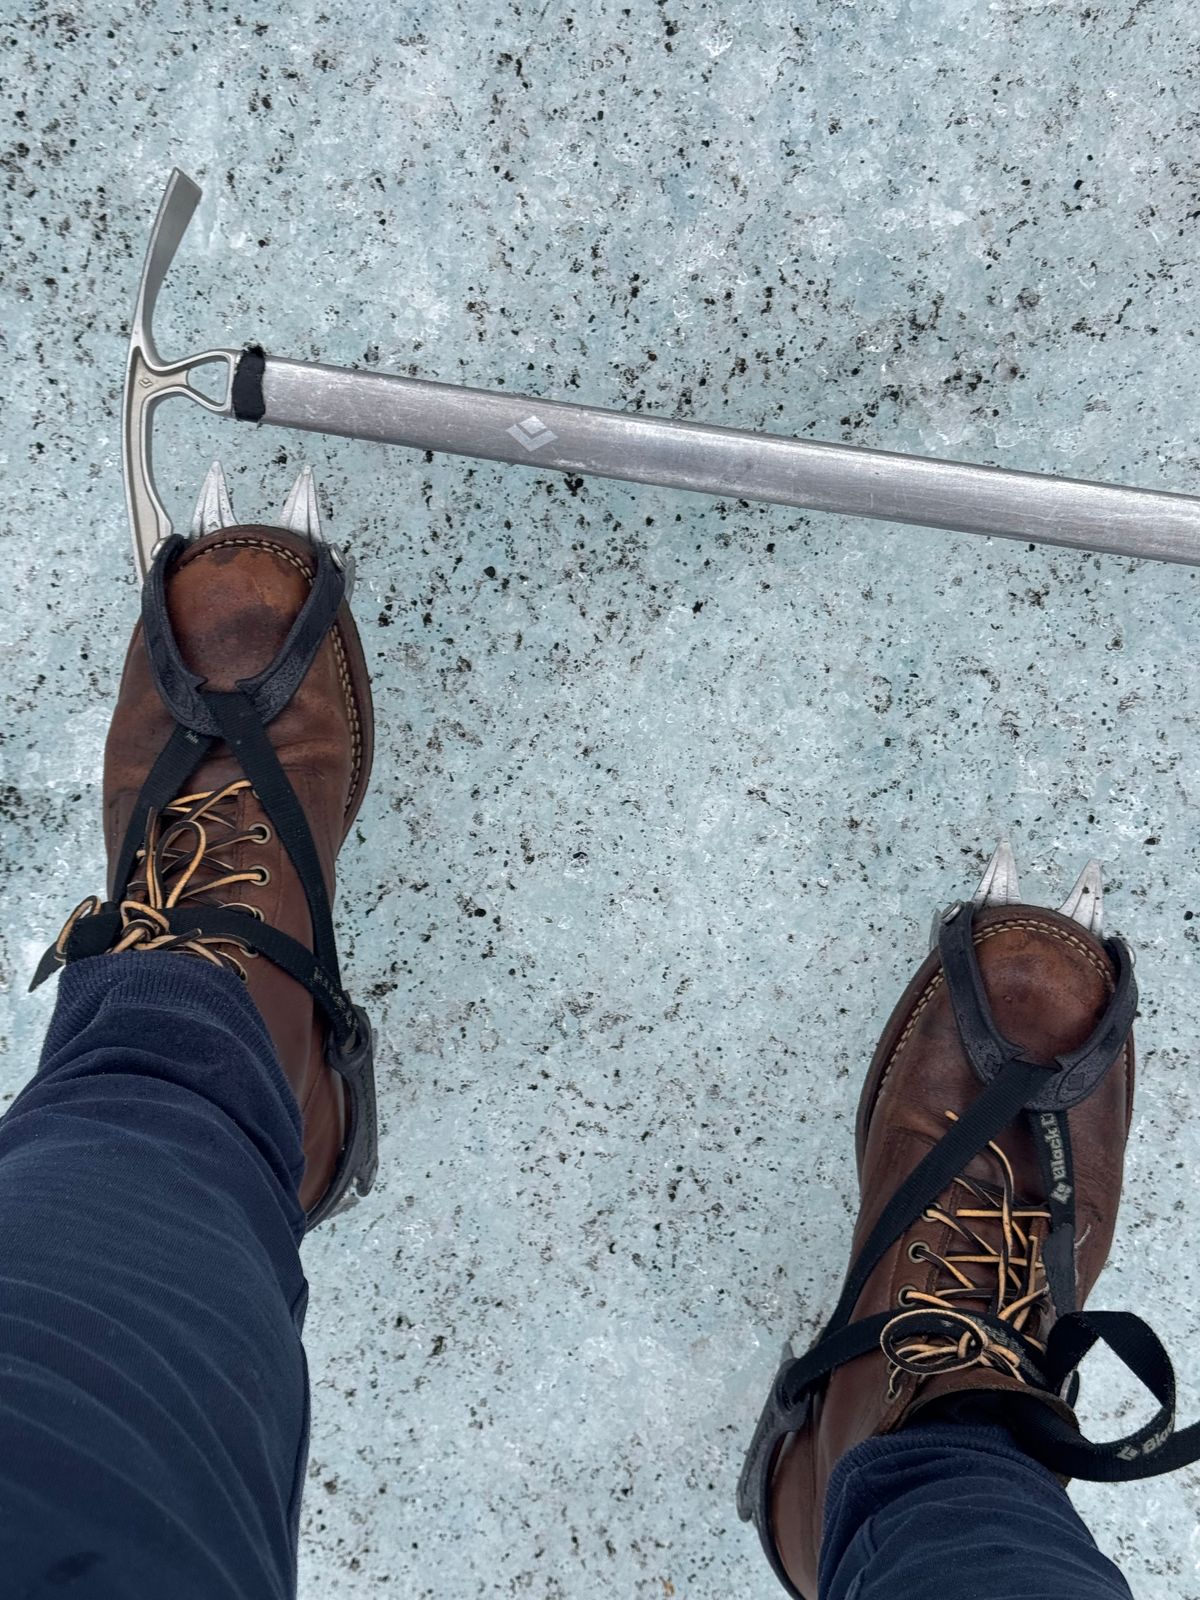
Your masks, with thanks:
[[(182, 362), (165, 363), (154, 342), (152, 323), (158, 290), (179, 242), (187, 232), (187, 224), (200, 205), (200, 186), (176, 166), (154, 222), (130, 328), (123, 416), (125, 502), (133, 528), (133, 554), (142, 578), (149, 571), (154, 552), (171, 533), (171, 518), (154, 486), (152, 432), (158, 402), (168, 400), (171, 395), (187, 395), (206, 411), (229, 416), (234, 406), (234, 378), (242, 354), (238, 350), (205, 350), (202, 355), (189, 355)], [(226, 368), (226, 392), (224, 398), (219, 400), (210, 400), (189, 382), (194, 370), (213, 363), (222, 363)]]

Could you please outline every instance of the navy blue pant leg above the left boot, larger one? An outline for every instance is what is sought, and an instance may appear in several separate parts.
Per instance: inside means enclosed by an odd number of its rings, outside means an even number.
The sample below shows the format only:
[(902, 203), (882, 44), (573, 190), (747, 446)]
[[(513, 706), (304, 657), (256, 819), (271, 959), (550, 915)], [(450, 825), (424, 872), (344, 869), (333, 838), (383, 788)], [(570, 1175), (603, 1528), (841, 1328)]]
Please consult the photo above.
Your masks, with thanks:
[(0, 1120), (0, 1592), (288, 1600), (301, 1122), (237, 974), (67, 966)]

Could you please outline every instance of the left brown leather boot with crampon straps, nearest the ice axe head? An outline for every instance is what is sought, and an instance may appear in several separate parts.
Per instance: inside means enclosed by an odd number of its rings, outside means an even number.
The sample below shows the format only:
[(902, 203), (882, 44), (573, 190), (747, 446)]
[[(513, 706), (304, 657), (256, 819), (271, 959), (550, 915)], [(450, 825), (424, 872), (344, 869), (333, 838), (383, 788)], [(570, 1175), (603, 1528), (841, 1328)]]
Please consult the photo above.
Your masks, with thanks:
[(109, 898), (83, 902), (54, 957), (187, 952), (245, 978), (301, 1106), (309, 1226), (376, 1166), (371, 1030), (331, 923), (371, 752), (341, 557), (270, 526), (170, 539), (109, 731)]

